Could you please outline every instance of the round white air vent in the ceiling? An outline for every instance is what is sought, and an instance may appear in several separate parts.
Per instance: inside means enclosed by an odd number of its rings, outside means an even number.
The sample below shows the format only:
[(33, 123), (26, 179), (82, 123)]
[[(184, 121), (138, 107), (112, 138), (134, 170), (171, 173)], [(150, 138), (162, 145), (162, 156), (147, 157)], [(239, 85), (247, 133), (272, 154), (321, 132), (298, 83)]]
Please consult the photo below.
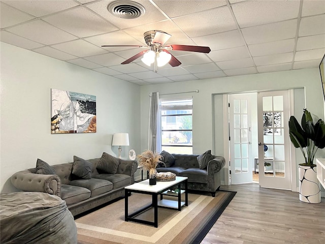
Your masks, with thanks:
[(141, 4), (133, 1), (116, 1), (108, 5), (108, 11), (122, 19), (135, 19), (142, 16), (146, 10)]

